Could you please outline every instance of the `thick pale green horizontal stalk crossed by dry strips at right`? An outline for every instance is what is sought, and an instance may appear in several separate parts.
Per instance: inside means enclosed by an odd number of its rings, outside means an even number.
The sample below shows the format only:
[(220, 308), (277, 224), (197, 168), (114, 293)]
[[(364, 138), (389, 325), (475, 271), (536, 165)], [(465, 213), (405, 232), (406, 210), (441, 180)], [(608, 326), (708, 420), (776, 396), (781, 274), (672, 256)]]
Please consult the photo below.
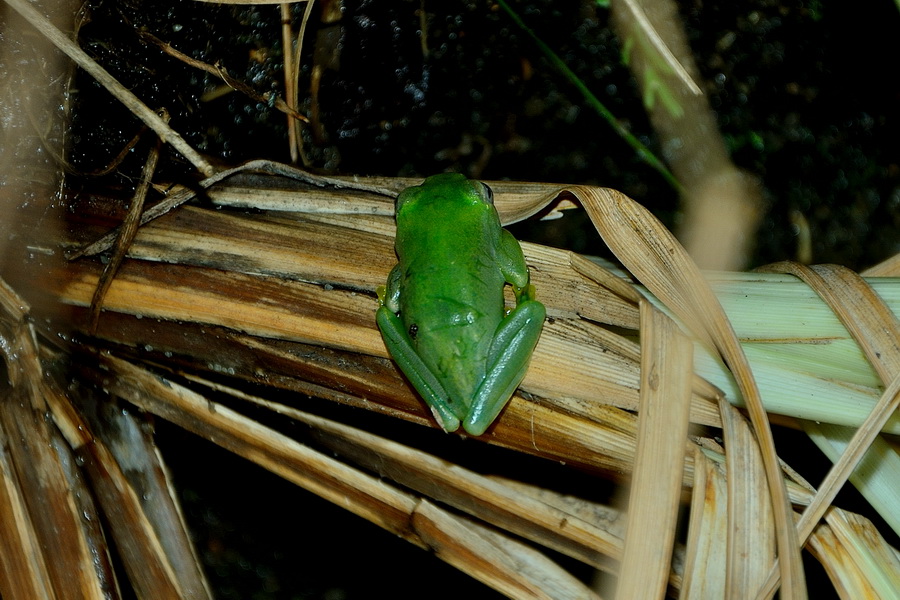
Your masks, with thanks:
[[(770, 414), (852, 427), (865, 421), (884, 384), (815, 291), (792, 275), (707, 275), (741, 340)], [(896, 280), (867, 282), (900, 313)], [(696, 369), (730, 399), (741, 397), (725, 365), (702, 347), (697, 349)], [(890, 418), (884, 431), (900, 433), (900, 415)]]

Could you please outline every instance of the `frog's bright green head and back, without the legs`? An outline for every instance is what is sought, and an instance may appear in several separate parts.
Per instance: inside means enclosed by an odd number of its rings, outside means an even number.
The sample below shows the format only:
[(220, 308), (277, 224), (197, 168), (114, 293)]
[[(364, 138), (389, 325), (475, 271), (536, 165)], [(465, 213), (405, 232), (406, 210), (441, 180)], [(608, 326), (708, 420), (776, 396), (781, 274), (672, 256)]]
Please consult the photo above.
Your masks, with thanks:
[(503, 319), (504, 277), (493, 205), (457, 201), (420, 198), (414, 218), (398, 216), (400, 318), (419, 356), (468, 405)]

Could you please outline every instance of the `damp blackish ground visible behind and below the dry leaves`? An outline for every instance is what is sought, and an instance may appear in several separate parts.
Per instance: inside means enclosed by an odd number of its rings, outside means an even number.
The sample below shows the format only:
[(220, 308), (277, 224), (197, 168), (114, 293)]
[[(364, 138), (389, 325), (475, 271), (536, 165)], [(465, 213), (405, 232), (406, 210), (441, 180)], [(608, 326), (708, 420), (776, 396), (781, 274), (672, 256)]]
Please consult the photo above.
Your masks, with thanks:
[[(658, 151), (605, 8), (549, 0), (511, 5), (619, 122)], [(304, 6), (294, 5), (298, 23)], [(680, 7), (734, 161), (763, 184), (767, 214), (751, 264), (794, 258), (794, 213), (809, 223), (814, 262), (862, 269), (900, 251), (897, 7), (760, 0)], [(196, 148), (226, 164), (289, 160), (281, 113), (238, 93), (204, 96), (220, 85), (215, 78), (140, 35), (221, 64), (259, 93), (280, 94), (276, 7), (106, 0), (86, 15), (82, 46), (147, 104), (165, 107)], [(676, 223), (676, 193), (497, 5), (361, 1), (335, 15), (314, 11), (300, 74), (315, 168), (598, 184)], [(86, 77), (74, 97), (73, 166), (101, 168), (140, 127)], [(142, 162), (133, 154), (90, 185), (129, 189)], [(192, 176), (174, 154), (162, 168), (173, 179)], [(517, 231), (604, 253), (578, 215)], [(398, 598), (491, 597), (426, 553), (172, 427), (160, 427), (160, 443), (220, 598), (337, 600), (374, 590)], [(500, 460), (495, 450), (483, 451), (485, 465)], [(816, 577), (824, 576), (811, 572)]]

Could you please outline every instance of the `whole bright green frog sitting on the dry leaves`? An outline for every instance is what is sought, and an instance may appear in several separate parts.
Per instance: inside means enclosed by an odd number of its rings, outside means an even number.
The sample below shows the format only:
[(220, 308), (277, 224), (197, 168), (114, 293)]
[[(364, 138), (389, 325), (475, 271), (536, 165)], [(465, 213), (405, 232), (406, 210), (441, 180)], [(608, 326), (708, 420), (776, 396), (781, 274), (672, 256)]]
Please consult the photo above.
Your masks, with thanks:
[(404, 190), (396, 213), (399, 262), (378, 290), (378, 328), (438, 424), (481, 435), (525, 377), (546, 310), (485, 184), (434, 175)]

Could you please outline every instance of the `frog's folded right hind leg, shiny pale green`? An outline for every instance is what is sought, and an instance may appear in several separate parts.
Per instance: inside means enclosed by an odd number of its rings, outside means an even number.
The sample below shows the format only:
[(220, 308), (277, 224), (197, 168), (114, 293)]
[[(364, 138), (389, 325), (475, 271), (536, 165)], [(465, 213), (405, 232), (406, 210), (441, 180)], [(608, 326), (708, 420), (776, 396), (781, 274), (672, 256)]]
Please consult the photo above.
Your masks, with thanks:
[(543, 304), (525, 300), (500, 322), (491, 342), (487, 373), (463, 421), (463, 428), (471, 435), (484, 433), (519, 387), (546, 314)]

